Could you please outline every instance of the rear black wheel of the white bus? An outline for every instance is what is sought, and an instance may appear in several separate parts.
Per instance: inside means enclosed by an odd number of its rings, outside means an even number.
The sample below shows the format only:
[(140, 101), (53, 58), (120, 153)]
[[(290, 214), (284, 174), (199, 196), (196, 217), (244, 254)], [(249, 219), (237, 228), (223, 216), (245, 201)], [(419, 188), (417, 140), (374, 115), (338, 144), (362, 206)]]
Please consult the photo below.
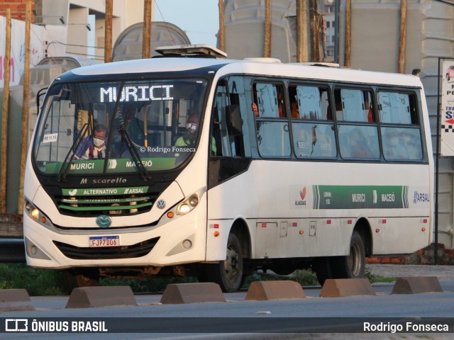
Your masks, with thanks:
[(366, 268), (364, 242), (359, 232), (354, 231), (350, 240), (350, 254), (339, 256), (333, 263), (335, 278), (363, 278)]

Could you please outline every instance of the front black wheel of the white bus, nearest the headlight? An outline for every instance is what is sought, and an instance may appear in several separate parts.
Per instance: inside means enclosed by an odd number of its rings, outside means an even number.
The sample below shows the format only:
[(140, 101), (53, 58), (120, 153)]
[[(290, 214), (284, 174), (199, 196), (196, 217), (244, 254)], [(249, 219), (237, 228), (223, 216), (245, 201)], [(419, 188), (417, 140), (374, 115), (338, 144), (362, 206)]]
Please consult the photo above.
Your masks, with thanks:
[(243, 255), (236, 234), (229, 234), (227, 241), (227, 259), (208, 265), (206, 276), (211, 282), (218, 283), (225, 293), (233, 293), (241, 288), (243, 278)]

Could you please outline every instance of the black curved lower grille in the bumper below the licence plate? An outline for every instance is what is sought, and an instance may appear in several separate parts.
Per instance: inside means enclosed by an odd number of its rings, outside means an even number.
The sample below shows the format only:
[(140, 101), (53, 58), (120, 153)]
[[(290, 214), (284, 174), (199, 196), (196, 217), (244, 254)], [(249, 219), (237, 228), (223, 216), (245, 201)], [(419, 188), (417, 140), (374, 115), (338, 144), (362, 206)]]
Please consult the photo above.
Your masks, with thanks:
[(155, 237), (131, 246), (109, 246), (105, 248), (72, 246), (57, 241), (54, 241), (54, 244), (65, 256), (74, 260), (133, 259), (150, 253), (158, 239), (159, 237)]

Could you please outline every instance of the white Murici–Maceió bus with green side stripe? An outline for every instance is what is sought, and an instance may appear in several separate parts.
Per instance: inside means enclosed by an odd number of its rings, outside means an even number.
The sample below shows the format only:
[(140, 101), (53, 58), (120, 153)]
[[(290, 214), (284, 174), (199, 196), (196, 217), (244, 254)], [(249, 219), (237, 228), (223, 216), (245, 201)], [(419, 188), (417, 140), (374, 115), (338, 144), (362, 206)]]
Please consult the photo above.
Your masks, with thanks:
[(418, 77), (161, 53), (52, 82), (26, 168), (29, 266), (73, 287), (196, 276), (232, 292), (257, 269), (360, 278), (367, 256), (431, 243)]

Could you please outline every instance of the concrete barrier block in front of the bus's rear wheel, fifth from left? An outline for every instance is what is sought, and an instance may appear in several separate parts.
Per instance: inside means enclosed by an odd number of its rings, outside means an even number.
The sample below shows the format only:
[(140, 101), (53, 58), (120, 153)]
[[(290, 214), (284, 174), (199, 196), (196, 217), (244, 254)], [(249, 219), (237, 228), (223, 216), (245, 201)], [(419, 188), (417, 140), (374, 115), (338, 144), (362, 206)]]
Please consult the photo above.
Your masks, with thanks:
[(321, 288), (320, 297), (375, 295), (367, 278), (329, 278)]

